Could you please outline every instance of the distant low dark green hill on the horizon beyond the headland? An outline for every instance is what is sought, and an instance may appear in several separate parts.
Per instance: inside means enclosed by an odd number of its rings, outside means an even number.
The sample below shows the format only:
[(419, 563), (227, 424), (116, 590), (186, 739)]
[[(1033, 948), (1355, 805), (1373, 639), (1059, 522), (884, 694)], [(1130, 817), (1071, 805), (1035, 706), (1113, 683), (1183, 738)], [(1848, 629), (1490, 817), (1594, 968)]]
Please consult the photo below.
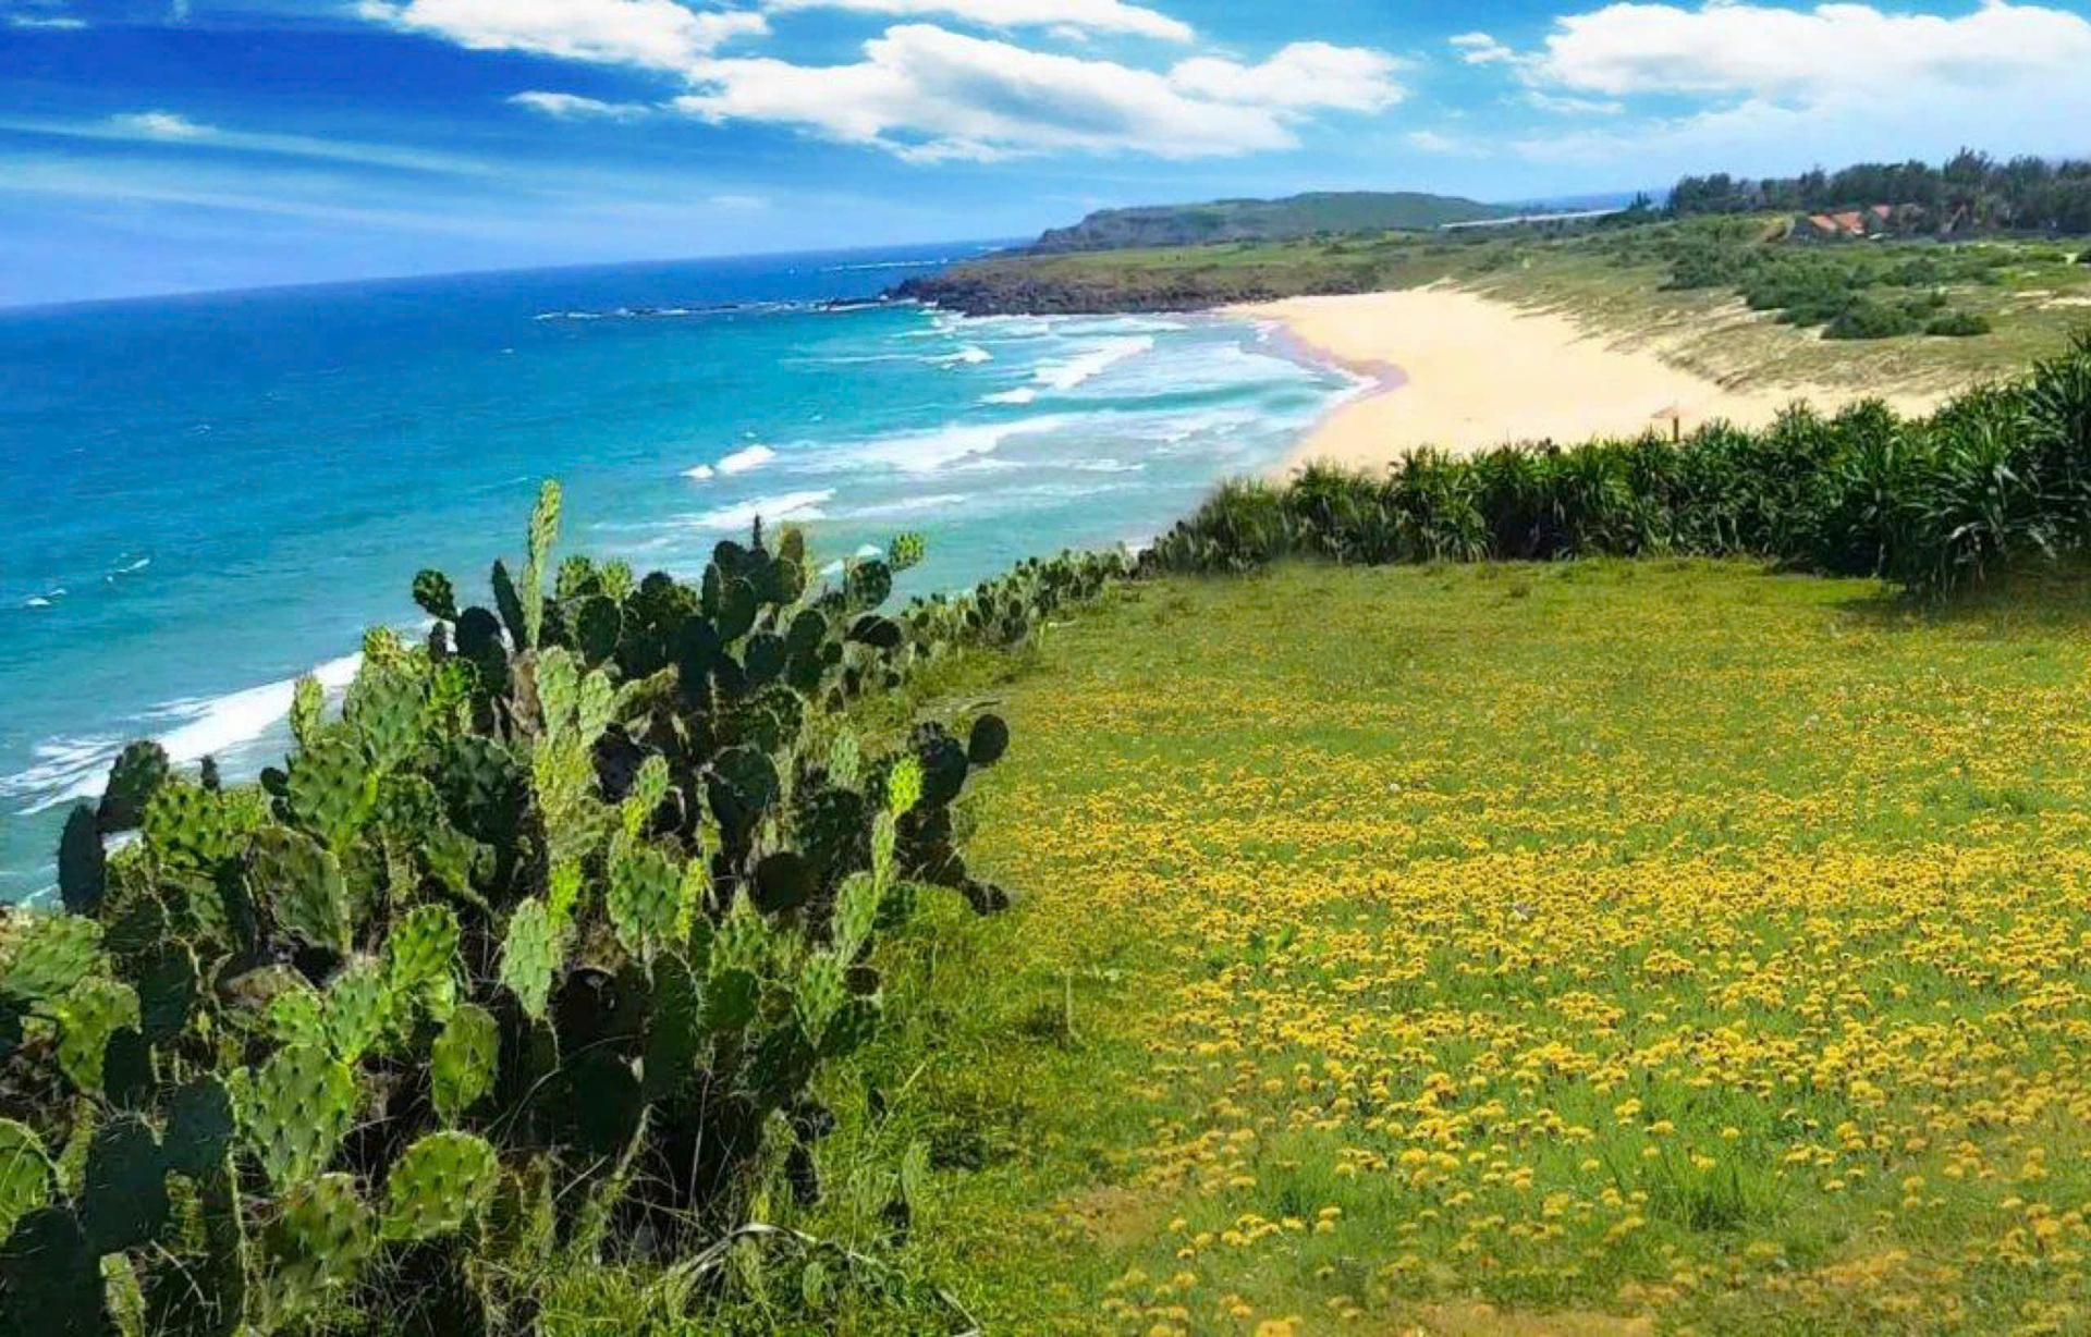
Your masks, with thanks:
[(1209, 201), (1204, 205), (1142, 205), (1100, 209), (1073, 228), (1054, 228), (1027, 247), (1031, 255), (1194, 247), (1202, 242), (1265, 242), (1317, 232), (1428, 230), (1510, 213), (1499, 205), (1414, 190), (1342, 190), (1294, 194), (1284, 201)]

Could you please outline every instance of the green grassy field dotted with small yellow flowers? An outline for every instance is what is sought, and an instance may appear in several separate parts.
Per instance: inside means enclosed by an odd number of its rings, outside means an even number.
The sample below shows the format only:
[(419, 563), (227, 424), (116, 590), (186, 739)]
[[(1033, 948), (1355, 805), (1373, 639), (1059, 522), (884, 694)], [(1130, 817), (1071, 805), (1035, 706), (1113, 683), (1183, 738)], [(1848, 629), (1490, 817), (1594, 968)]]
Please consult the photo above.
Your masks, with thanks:
[(960, 683), (1025, 900), (893, 963), (912, 1262), (993, 1333), (2083, 1322), (2087, 614), (1294, 568)]

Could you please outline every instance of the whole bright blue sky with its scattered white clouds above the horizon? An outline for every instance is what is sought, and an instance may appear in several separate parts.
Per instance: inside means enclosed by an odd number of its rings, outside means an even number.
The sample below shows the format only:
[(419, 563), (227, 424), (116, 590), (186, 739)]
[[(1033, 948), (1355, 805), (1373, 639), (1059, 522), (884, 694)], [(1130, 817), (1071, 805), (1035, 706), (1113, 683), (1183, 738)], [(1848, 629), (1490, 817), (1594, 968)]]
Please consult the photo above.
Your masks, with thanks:
[(0, 303), (2091, 155), (2076, 4), (0, 0)]

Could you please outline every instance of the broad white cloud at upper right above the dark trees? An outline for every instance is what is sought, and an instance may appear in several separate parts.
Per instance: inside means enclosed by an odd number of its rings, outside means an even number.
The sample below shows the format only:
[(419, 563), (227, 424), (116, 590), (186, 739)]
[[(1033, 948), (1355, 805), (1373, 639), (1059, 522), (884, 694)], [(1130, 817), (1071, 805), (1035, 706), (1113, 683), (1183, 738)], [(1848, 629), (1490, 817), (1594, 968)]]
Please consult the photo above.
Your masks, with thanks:
[[(1516, 52), (1526, 100), (1621, 111), (1621, 98), (1692, 98), (1698, 111), (1616, 130), (1531, 136), (1543, 163), (1633, 163), (1771, 173), (1809, 163), (1995, 153), (2081, 153), (2091, 121), (2091, 19), (1986, 0), (1961, 15), (1869, 4), (1610, 4), (1566, 15)], [(1595, 98), (1595, 100), (1593, 100)]]

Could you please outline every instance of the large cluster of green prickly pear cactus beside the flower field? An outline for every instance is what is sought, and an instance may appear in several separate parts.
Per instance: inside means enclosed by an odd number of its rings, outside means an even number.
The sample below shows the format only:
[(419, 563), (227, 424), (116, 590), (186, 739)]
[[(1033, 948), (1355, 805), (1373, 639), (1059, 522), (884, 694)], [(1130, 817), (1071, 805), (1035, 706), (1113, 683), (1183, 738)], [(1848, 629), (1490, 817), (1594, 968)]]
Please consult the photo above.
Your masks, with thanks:
[(918, 537), (818, 585), (757, 526), (684, 585), (554, 566), (558, 501), (493, 608), (422, 572), (427, 643), (372, 633), (339, 712), (301, 683), (257, 785), (128, 748), (63, 913), (0, 915), (0, 1088), (46, 1093), (0, 1118), (0, 1335), (324, 1329), (416, 1287), (489, 1331), (508, 1264), (677, 1247), (780, 1145), (818, 1191), (809, 1086), (876, 1034), (878, 934), (924, 886), (1006, 902), (951, 821), (1002, 721), (874, 754), (847, 706), (1115, 566), (887, 616)]

